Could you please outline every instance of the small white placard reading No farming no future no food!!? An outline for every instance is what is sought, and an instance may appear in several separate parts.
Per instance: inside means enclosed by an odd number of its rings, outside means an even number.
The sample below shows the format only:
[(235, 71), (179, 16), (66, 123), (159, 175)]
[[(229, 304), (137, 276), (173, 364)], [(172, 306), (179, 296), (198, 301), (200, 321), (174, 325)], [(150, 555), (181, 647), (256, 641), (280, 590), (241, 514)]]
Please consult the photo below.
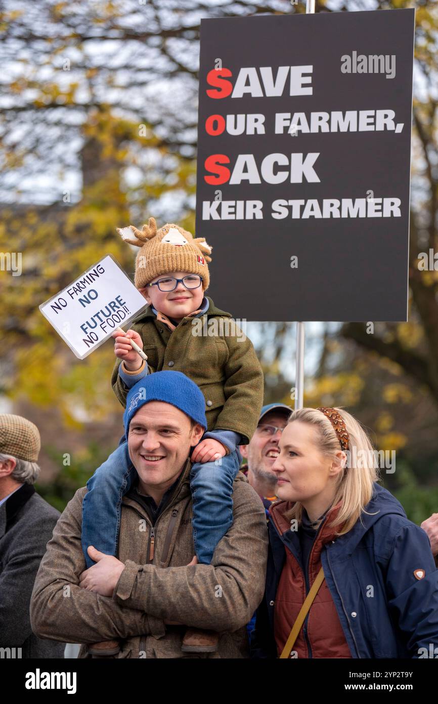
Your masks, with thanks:
[(120, 264), (108, 254), (39, 310), (79, 359), (101, 346), (148, 304)]

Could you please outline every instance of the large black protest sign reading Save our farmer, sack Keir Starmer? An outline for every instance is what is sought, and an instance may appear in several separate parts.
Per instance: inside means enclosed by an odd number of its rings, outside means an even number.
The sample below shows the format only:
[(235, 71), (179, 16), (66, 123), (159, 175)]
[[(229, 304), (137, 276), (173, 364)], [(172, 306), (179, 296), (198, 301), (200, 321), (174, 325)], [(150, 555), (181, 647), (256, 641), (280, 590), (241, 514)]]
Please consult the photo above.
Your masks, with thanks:
[(406, 320), (413, 10), (202, 20), (196, 234), (247, 320)]

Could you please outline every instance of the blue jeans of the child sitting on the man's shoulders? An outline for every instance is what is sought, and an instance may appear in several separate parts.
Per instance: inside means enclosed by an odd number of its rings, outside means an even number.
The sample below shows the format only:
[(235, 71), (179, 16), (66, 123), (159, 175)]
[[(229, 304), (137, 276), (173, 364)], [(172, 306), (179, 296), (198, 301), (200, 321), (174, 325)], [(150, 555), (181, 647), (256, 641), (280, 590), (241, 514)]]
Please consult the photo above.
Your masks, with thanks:
[[(214, 548), (233, 523), (233, 482), (242, 455), (236, 449), (214, 462), (195, 463), (190, 481), (193, 498), (193, 540), (198, 562), (210, 565)], [(93, 545), (115, 555), (122, 497), (131, 488), (136, 470), (124, 436), (120, 444), (86, 482), (82, 503), (82, 550), (86, 567), (94, 565), (86, 548)]]

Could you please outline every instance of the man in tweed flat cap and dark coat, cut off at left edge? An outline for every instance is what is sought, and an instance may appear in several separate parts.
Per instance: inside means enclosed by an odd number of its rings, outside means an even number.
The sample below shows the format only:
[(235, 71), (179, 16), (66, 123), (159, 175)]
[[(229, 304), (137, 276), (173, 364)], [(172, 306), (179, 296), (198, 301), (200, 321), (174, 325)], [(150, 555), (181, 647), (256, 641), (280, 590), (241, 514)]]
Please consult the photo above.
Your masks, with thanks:
[[(0, 415), (0, 648), (6, 658), (63, 658), (65, 643), (30, 626), (30, 595), (60, 513), (34, 489), (41, 440), (20, 415)], [(19, 648), (19, 650), (11, 650)]]

